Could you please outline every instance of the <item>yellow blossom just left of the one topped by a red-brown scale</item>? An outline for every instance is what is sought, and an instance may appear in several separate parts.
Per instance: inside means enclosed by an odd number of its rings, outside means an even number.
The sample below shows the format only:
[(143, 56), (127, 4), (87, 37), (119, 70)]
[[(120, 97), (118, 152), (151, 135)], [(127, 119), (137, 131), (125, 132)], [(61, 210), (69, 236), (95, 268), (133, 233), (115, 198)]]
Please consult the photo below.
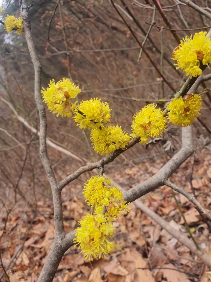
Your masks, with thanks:
[[(157, 106), (157, 105), (156, 105)], [(161, 109), (156, 109), (154, 103), (144, 106), (133, 116), (132, 137), (139, 136), (141, 144), (149, 141), (149, 137), (158, 137), (166, 129), (166, 119)]]

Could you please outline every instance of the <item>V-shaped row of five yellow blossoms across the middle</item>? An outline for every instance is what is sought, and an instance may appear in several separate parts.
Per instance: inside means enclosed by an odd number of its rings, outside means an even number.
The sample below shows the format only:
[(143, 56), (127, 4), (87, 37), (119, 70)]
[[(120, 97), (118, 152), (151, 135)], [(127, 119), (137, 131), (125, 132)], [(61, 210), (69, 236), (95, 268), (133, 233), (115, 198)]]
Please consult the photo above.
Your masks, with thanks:
[(121, 126), (107, 124), (111, 118), (107, 102), (94, 98), (78, 103), (74, 99), (80, 92), (80, 88), (68, 78), (57, 83), (53, 79), (46, 90), (41, 90), (49, 110), (57, 116), (71, 117), (73, 114), (77, 126), (91, 130), (93, 149), (106, 156), (115, 150), (126, 149), (131, 137), (140, 137), (141, 144), (146, 144), (150, 137), (159, 137), (166, 130), (167, 122), (182, 127), (190, 125), (200, 115), (199, 110), (202, 108), (202, 98), (198, 94), (189, 94), (185, 100), (182, 97), (173, 99), (166, 106), (167, 115), (156, 108), (154, 103), (148, 104), (133, 116), (132, 133), (129, 135)]

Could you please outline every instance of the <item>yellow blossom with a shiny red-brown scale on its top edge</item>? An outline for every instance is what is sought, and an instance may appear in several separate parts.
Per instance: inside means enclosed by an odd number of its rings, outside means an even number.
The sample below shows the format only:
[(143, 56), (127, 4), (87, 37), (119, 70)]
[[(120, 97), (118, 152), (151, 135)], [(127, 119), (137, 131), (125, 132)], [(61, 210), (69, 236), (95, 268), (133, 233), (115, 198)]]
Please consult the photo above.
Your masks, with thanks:
[[(184, 96), (185, 98), (185, 96)], [(166, 105), (169, 122), (174, 125), (185, 127), (191, 125), (194, 120), (200, 115), (199, 111), (202, 109), (202, 97), (198, 94), (188, 94), (187, 98), (183, 100), (173, 99), (171, 103)]]

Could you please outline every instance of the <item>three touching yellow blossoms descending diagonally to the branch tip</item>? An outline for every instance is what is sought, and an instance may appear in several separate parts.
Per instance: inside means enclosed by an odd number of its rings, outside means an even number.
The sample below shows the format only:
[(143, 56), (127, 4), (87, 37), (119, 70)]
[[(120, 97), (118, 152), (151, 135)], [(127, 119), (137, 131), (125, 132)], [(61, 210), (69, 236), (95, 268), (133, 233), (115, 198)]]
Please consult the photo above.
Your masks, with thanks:
[(107, 102), (94, 98), (81, 102), (72, 102), (81, 90), (74, 85), (68, 78), (55, 83), (50, 81), (49, 87), (41, 90), (47, 103), (48, 109), (57, 116), (71, 117), (74, 112), (73, 120), (77, 126), (83, 129), (91, 129), (90, 139), (93, 142), (93, 149), (101, 155), (109, 155), (117, 149), (125, 149), (130, 137), (122, 130), (121, 126), (105, 124), (110, 121), (110, 108)]

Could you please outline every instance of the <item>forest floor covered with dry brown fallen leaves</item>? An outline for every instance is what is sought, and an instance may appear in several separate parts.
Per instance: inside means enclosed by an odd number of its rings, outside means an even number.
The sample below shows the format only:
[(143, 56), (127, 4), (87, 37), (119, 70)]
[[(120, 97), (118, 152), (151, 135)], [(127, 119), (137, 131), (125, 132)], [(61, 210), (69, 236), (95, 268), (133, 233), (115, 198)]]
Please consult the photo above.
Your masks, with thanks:
[[(134, 186), (156, 173), (165, 159), (148, 161), (110, 172), (120, 186)], [(194, 165), (193, 165), (194, 164)], [(203, 149), (189, 158), (172, 176), (174, 184), (192, 193), (202, 205), (211, 209), (211, 151)], [(193, 171), (192, 171), (193, 170)], [(191, 185), (187, 175), (192, 174)], [(87, 212), (82, 197), (81, 183), (70, 189), (64, 188), (63, 211), (66, 231), (77, 227), (78, 220)], [(72, 198), (70, 199), (70, 192)], [(176, 193), (176, 199), (200, 248), (210, 250), (210, 232), (195, 206), (183, 195)], [(139, 199), (152, 211), (160, 215), (181, 234), (189, 236), (184, 226), (172, 191), (162, 186)], [(1, 211), (0, 211), (1, 213)], [(38, 201), (36, 217), (23, 211), (23, 205), (9, 214), (1, 238), (2, 263), (9, 267), (9, 281), (35, 282), (55, 236), (52, 201)], [(4, 215), (1, 215), (4, 221)], [(128, 215), (123, 215), (114, 226), (116, 233), (112, 240), (115, 251), (108, 258), (88, 261), (80, 250), (71, 247), (64, 255), (54, 282), (207, 282), (209, 269), (177, 239), (162, 229), (155, 221), (142, 213), (133, 203)], [(3, 232), (3, 231), (2, 231)], [(25, 234), (27, 234), (25, 236)], [(24, 239), (23, 239), (24, 238)], [(1, 279), (0, 279), (1, 280)], [(4, 276), (1, 281), (8, 281)]]

